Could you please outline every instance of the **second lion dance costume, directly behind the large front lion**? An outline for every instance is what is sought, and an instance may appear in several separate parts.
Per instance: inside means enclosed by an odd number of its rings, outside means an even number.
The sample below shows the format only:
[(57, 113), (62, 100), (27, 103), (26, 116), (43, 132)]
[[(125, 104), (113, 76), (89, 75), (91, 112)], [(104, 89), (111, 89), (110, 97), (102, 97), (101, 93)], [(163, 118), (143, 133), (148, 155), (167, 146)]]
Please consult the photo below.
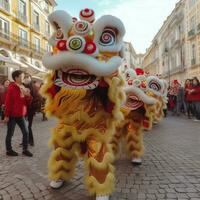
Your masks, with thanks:
[(143, 145), (143, 119), (145, 116), (145, 105), (154, 105), (156, 100), (148, 95), (146, 77), (143, 70), (128, 69), (125, 72), (127, 101), (121, 107), (124, 120), (111, 140), (114, 154), (118, 152), (120, 138), (125, 137), (126, 147), (132, 163), (141, 164), (141, 156), (144, 153)]

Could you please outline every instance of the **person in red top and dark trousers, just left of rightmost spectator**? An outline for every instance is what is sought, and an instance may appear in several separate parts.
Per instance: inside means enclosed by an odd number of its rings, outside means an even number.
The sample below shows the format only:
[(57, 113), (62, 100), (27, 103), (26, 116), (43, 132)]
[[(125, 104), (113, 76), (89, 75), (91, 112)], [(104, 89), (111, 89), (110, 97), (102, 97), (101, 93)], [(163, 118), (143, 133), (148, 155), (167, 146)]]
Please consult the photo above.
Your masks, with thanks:
[(190, 91), (192, 90), (192, 80), (186, 79), (185, 81), (185, 102), (187, 106), (188, 119), (191, 119), (193, 114), (192, 97)]

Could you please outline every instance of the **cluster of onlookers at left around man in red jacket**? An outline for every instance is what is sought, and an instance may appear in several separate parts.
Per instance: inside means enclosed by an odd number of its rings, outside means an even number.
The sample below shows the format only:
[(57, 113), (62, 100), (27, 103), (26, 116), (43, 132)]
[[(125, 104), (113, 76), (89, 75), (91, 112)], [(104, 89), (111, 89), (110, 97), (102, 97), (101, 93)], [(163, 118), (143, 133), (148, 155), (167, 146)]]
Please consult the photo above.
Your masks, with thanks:
[(47, 120), (43, 109), (45, 99), (39, 93), (42, 84), (33, 81), (30, 74), (21, 70), (14, 71), (12, 78), (13, 81), (6, 79), (0, 84), (0, 122), (7, 124), (6, 154), (18, 155), (12, 149), (12, 137), (18, 125), (23, 135), (20, 144), (23, 147), (22, 153), (32, 157), (28, 146), (34, 146), (33, 118), (37, 112), (41, 112), (42, 120)]

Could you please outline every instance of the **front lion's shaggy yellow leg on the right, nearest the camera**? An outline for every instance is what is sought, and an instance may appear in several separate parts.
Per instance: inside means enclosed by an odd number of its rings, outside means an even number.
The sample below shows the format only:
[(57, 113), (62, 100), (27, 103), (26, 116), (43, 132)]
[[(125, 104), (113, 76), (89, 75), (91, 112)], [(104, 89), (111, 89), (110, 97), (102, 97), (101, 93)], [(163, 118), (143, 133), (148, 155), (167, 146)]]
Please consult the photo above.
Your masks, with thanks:
[(97, 142), (95, 137), (87, 139), (88, 152), (85, 157), (86, 186), (96, 199), (108, 199), (114, 189), (113, 154), (109, 144)]

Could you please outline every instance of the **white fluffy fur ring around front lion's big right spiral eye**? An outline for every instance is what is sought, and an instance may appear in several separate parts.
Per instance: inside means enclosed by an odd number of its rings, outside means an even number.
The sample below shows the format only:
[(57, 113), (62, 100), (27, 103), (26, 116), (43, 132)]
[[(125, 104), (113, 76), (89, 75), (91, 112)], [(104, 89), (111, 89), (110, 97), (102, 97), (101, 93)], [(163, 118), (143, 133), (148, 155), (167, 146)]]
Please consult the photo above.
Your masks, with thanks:
[[(102, 46), (99, 44), (100, 37), (105, 28), (116, 28), (118, 35), (116, 38), (116, 44), (111, 46)], [(123, 47), (123, 37), (125, 35), (125, 27), (120, 19), (112, 15), (104, 15), (99, 18), (93, 25), (95, 31), (94, 41), (98, 45), (100, 51), (107, 52), (119, 52)]]

